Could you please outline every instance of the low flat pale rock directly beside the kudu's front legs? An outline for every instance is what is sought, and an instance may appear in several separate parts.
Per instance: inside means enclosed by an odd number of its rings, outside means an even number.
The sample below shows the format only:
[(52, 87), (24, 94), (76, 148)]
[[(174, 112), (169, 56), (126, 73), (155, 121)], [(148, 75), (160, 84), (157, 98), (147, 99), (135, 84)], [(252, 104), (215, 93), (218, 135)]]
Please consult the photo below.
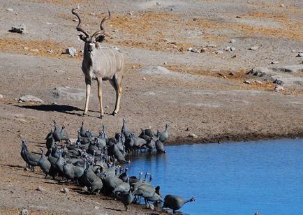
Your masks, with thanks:
[(52, 90), (52, 96), (56, 99), (82, 101), (86, 96), (86, 92), (84, 89), (77, 89), (73, 87), (56, 87)]

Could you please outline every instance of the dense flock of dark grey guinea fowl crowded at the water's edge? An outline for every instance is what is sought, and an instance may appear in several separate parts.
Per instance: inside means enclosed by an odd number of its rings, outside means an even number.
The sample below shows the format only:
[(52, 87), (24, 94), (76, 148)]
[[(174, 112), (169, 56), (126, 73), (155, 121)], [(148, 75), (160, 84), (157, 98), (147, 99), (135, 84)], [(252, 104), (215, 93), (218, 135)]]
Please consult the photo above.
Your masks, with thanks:
[[(84, 128), (84, 123), (78, 131), (77, 140), (73, 143), (68, 138), (65, 127), (61, 128), (54, 121), (54, 129), (47, 134), (46, 154), (44, 148), (40, 148), (41, 154), (29, 151), (27, 142), (22, 140), (21, 156), (27, 163), (27, 168), (34, 171), (39, 166), (47, 176), (52, 179), (64, 179), (66, 184), (77, 183), (86, 186), (89, 193), (100, 192), (110, 195), (113, 199), (120, 200), (127, 212), (128, 205), (139, 203), (143, 198), (145, 205), (150, 208), (163, 207), (175, 211), (186, 202), (195, 198), (184, 200), (176, 195), (161, 197), (160, 186), (151, 185), (154, 178), (149, 172), (139, 172), (139, 177), (128, 176), (128, 168), (123, 167), (128, 154), (135, 151), (153, 151), (166, 153), (163, 142), (168, 139), (168, 125), (165, 131), (154, 132), (151, 129), (142, 129), (136, 136), (123, 119), (121, 133), (116, 133), (114, 138), (109, 138), (103, 125), (101, 132), (95, 135)], [(150, 205), (149, 202), (154, 202)]]

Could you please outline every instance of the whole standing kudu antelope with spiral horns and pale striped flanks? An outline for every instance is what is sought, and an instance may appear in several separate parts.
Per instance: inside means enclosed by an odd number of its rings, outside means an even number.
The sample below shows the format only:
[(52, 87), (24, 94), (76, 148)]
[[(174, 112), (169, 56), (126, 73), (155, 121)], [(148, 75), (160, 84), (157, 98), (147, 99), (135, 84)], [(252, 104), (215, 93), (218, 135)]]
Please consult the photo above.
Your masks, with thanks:
[(124, 69), (124, 57), (123, 54), (116, 47), (101, 47), (101, 43), (105, 38), (105, 30), (103, 24), (110, 18), (110, 11), (108, 16), (104, 17), (100, 24), (100, 30), (96, 31), (91, 36), (84, 31), (81, 27), (80, 16), (75, 13), (73, 8), (72, 13), (76, 15), (79, 23), (76, 27), (77, 31), (83, 34), (79, 35), (79, 38), (84, 41), (84, 52), (82, 61), (82, 71), (85, 76), (85, 84), (87, 88), (87, 94), (85, 99), (85, 107), (83, 114), (87, 114), (89, 110), (89, 94), (91, 91), (91, 80), (97, 80), (98, 82), (98, 98), (100, 102), (100, 118), (103, 117), (103, 103), (102, 103), (102, 81), (109, 80), (112, 87), (116, 91), (116, 105), (114, 107), (113, 115), (119, 112), (120, 99), (122, 94), (121, 79)]

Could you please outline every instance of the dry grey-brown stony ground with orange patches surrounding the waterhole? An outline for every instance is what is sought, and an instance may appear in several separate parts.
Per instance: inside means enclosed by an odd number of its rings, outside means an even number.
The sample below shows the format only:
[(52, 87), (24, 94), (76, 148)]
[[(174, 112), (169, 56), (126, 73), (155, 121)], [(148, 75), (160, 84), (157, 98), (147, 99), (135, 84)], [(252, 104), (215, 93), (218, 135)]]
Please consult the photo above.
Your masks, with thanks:
[[(168, 144), (303, 137), (303, 3), (286, 1), (0, 1), (1, 214), (124, 214), (120, 202), (81, 194), (76, 186), (24, 171), (21, 140), (37, 151), (52, 119), (77, 135), (80, 124), (114, 135), (122, 118), (135, 133), (163, 130)], [(105, 22), (105, 45), (126, 57), (121, 111), (103, 84), (99, 119), (96, 83), (82, 117), (83, 43), (71, 8), (80, 2), (82, 27)], [(27, 34), (9, 32), (24, 24)], [(75, 47), (71, 57), (67, 47)], [(153, 66), (153, 67), (149, 67)], [(157, 67), (157, 66), (162, 66)], [(167, 70), (165, 70), (165, 68)], [(20, 101), (36, 96), (40, 102)], [(189, 137), (192, 133), (193, 137)], [(36, 191), (38, 186), (45, 191)], [(131, 205), (131, 214), (151, 214)]]

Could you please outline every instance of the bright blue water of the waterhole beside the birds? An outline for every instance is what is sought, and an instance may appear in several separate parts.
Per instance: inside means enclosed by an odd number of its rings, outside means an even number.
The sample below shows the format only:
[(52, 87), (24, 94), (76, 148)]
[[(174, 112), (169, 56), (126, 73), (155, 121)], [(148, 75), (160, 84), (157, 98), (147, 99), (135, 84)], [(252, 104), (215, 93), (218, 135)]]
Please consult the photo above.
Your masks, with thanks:
[(189, 202), (184, 214), (303, 214), (303, 140), (167, 146), (131, 158), (165, 195)]

